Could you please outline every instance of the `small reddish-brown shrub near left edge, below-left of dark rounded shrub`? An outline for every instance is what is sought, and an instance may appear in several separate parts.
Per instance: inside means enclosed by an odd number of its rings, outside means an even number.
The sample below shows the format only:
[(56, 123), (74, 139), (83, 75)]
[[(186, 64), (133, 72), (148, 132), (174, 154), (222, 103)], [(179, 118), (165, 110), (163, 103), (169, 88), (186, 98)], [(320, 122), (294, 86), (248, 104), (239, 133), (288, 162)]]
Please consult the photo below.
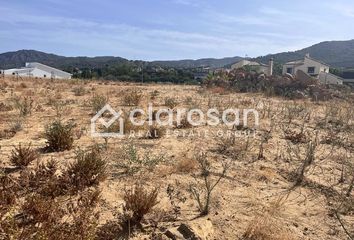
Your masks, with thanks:
[(18, 147), (12, 150), (10, 161), (14, 166), (24, 168), (37, 158), (38, 153), (32, 149), (31, 144), (27, 147), (22, 147), (21, 144), (19, 144)]

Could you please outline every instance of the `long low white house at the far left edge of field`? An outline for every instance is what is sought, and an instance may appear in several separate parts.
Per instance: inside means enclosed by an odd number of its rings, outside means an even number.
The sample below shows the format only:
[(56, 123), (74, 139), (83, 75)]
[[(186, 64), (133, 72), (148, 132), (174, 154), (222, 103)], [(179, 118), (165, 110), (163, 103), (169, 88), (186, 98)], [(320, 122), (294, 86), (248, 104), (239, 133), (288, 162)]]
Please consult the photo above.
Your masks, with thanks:
[(4, 74), (50, 79), (70, 79), (72, 76), (70, 73), (37, 62), (26, 63), (26, 66), (23, 68), (4, 70)]

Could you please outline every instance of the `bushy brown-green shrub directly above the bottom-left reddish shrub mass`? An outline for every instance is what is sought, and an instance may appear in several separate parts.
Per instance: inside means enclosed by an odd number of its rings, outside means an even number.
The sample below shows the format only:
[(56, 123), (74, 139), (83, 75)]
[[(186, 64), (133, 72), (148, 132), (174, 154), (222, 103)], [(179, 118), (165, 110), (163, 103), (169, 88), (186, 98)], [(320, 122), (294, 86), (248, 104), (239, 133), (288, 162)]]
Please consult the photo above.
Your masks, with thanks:
[(78, 151), (75, 162), (63, 174), (67, 188), (74, 192), (96, 186), (107, 177), (107, 164), (98, 149), (89, 152)]

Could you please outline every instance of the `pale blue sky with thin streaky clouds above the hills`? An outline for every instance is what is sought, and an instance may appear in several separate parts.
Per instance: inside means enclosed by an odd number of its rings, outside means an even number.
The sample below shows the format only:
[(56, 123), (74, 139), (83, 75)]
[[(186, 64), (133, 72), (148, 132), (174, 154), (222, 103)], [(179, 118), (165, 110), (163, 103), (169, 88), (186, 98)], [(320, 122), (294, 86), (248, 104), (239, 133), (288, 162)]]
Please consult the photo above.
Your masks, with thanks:
[(0, 52), (172, 60), (354, 38), (353, 0), (2, 0)]

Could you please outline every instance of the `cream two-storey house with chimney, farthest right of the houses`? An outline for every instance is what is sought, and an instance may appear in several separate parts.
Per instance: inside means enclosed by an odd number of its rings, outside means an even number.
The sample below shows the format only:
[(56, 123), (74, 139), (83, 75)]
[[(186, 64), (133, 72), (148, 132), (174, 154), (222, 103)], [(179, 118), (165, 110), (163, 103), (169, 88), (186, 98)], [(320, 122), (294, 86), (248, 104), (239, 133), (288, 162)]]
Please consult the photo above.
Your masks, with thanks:
[(304, 59), (287, 62), (283, 65), (283, 74), (296, 75), (301, 70), (311, 77), (320, 80), (322, 84), (343, 84), (343, 79), (329, 73), (330, 66), (306, 54)]

